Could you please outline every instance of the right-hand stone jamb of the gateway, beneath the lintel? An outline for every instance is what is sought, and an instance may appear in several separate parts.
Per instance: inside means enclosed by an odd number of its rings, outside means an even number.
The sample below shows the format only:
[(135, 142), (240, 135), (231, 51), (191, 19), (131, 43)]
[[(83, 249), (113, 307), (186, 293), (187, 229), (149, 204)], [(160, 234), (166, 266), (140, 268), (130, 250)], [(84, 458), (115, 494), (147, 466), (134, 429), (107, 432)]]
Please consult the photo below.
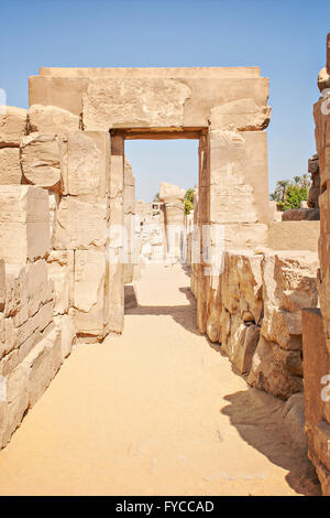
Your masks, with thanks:
[(206, 172), (199, 187), (205, 208), (199, 209), (204, 277), (198, 282), (202, 285), (198, 325), (202, 332), (212, 330), (221, 317), (223, 252), (267, 246), (267, 134), (263, 129), (270, 111), (252, 98), (220, 105), (211, 109), (208, 134), (201, 138)]

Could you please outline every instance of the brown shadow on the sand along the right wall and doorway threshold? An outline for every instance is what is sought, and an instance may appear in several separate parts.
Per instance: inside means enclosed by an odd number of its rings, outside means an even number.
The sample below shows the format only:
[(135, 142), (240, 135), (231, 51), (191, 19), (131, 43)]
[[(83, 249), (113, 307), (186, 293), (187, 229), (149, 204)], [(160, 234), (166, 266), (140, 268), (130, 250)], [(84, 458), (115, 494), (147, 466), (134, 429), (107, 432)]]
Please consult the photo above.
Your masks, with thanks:
[[(186, 271), (186, 274), (189, 274)], [(134, 287), (125, 285), (125, 314), (130, 315), (168, 315), (190, 333), (200, 335), (196, 324), (196, 299), (189, 288), (179, 288), (189, 302), (186, 305), (139, 305)], [(224, 356), (220, 344), (212, 344), (206, 336), (209, 346)], [(228, 359), (229, 360), (229, 359)], [(239, 375), (235, 369), (232, 370)], [(245, 391), (228, 395), (229, 404), (221, 412), (229, 417), (241, 438), (253, 449), (265, 455), (274, 465), (286, 470), (288, 485), (298, 494), (306, 496), (320, 495), (320, 485), (314, 466), (306, 453), (293, 447), (285, 429), (284, 402), (273, 396), (246, 386)]]

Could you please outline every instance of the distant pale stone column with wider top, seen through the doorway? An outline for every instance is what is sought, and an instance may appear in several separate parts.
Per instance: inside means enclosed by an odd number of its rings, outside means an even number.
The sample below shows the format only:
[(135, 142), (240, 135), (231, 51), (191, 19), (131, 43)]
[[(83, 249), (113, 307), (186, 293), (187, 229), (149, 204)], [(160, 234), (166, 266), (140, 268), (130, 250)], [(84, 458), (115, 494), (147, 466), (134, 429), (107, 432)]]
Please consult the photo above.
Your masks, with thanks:
[(166, 229), (166, 260), (177, 262), (183, 257), (185, 246), (185, 191), (176, 185), (163, 182), (160, 199), (164, 203)]

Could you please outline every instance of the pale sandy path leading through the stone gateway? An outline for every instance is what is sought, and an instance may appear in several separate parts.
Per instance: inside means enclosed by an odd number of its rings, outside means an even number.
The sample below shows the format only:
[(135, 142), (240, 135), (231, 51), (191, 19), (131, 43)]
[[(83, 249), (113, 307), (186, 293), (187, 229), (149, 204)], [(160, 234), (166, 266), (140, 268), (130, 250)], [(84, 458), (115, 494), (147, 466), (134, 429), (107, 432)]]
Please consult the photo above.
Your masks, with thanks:
[(180, 267), (143, 270), (122, 336), (78, 345), (0, 452), (1, 495), (311, 494), (283, 403), (200, 336)]

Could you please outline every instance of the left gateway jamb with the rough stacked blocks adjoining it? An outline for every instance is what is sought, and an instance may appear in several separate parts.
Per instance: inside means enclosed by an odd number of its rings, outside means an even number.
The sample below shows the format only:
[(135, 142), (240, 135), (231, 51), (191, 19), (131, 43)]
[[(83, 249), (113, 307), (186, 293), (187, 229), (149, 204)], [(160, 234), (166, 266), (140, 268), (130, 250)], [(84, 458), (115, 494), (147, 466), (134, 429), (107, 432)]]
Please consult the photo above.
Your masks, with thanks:
[[(116, 258), (110, 268), (109, 256), (110, 241), (117, 241), (110, 235), (110, 218), (119, 224), (123, 218), (123, 173), (116, 177), (109, 132), (81, 131), (79, 116), (52, 106), (34, 105), (28, 112), (7, 108), (0, 119), (1, 150), (14, 150), (18, 155), (15, 175), (2, 162), (1, 184), (37, 185), (48, 192), (52, 245), (47, 262), (55, 285), (54, 315), (66, 326), (75, 326), (84, 339), (120, 332), (122, 317), (108, 300), (111, 280), (116, 283), (121, 269)], [(129, 197), (127, 204), (131, 211)]]

